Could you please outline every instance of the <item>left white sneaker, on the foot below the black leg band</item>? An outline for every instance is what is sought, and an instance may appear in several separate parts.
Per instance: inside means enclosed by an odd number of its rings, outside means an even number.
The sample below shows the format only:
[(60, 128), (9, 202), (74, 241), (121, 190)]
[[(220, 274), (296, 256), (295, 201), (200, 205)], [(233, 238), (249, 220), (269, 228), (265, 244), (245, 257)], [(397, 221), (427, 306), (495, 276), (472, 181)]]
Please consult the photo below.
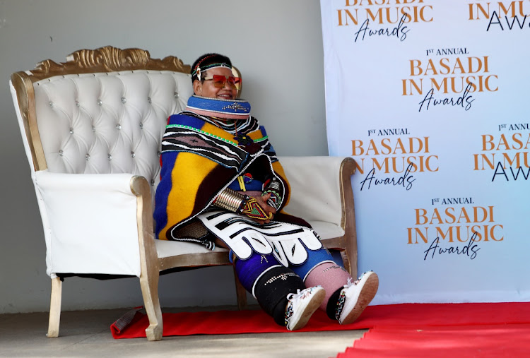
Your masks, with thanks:
[(317, 311), (326, 291), (322, 286), (314, 286), (305, 290), (297, 290), (297, 293), (287, 295), (289, 300), (285, 309), (285, 326), (288, 330), (298, 330), (304, 327), (311, 318), (314, 311)]

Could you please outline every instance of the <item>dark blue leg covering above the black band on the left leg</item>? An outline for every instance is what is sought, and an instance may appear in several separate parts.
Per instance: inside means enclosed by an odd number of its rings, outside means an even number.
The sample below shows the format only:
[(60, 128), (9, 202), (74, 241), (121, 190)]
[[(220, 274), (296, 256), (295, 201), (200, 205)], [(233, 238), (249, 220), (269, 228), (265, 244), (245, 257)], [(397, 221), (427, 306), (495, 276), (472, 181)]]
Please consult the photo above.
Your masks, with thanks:
[(246, 260), (235, 261), (235, 272), (245, 290), (254, 295), (254, 283), (263, 273), (275, 266), (281, 266), (281, 263), (271, 254), (261, 255), (261, 253), (253, 252)]

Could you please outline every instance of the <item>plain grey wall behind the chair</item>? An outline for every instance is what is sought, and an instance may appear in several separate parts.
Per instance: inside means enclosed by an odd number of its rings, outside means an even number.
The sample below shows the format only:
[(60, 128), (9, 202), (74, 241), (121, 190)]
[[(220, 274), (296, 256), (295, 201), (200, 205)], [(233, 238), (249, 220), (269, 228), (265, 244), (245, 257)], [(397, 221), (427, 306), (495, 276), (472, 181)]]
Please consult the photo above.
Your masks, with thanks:
[[(242, 97), (279, 155), (327, 155), (322, 25), (318, 0), (0, 0), (0, 314), (47, 311), (45, 241), (8, 90), (11, 73), (66, 61), (77, 49), (148, 49), (192, 64), (227, 54), (242, 72)], [(87, 222), (90, 225), (90, 222)], [(232, 268), (164, 275), (163, 306), (235, 304)], [(69, 278), (63, 309), (142, 304), (134, 278)]]

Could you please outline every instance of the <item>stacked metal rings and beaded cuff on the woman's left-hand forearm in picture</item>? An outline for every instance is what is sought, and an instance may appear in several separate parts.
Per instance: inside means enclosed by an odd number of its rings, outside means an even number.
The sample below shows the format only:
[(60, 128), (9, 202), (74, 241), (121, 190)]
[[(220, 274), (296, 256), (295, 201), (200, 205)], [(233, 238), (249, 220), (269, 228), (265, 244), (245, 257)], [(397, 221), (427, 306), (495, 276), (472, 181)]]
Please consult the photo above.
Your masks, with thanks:
[(223, 190), (213, 201), (213, 205), (232, 213), (247, 215), (252, 219), (269, 220), (272, 218), (271, 213), (265, 213), (265, 210), (259, 206), (256, 198), (249, 198), (249, 196), (237, 193), (230, 188)]

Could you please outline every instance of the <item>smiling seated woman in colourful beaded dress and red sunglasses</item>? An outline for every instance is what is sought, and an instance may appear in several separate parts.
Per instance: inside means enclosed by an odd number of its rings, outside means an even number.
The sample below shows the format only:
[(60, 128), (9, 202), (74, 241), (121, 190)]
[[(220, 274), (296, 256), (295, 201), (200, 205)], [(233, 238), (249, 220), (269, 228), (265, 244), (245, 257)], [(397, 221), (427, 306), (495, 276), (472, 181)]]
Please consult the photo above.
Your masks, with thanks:
[(307, 222), (283, 213), (287, 178), (249, 103), (236, 100), (241, 79), (230, 59), (199, 57), (192, 82), (186, 110), (163, 136), (158, 239), (229, 248), (242, 285), (288, 330), (319, 307), (338, 323), (355, 321), (375, 297), (377, 275), (353, 282)]

